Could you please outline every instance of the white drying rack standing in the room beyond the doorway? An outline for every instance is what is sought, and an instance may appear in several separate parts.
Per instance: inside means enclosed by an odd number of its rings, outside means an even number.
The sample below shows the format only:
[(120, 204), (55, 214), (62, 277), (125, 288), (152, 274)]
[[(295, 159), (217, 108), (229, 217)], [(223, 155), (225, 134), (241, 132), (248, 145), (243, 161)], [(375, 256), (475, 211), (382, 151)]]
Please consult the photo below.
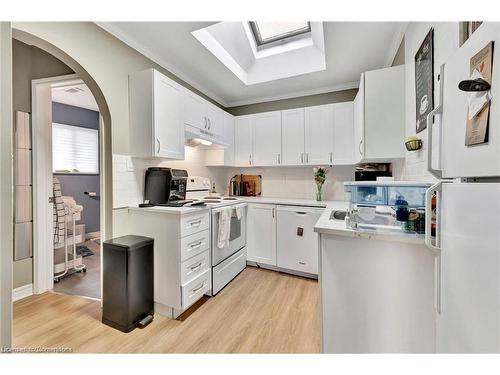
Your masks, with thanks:
[[(76, 222), (81, 219), (80, 212), (66, 214), (64, 220), (66, 221), (64, 229), (64, 242), (54, 245), (55, 249), (64, 247), (64, 262), (54, 264), (54, 282), (58, 283), (64, 276), (69, 274), (69, 271), (87, 272), (87, 267), (83, 264), (83, 257), (78, 256), (76, 253), (76, 244), (82, 242), (82, 235), (76, 234)], [(72, 225), (72, 234), (68, 235), (68, 223)], [(69, 259), (68, 248), (72, 246), (72, 258)]]

